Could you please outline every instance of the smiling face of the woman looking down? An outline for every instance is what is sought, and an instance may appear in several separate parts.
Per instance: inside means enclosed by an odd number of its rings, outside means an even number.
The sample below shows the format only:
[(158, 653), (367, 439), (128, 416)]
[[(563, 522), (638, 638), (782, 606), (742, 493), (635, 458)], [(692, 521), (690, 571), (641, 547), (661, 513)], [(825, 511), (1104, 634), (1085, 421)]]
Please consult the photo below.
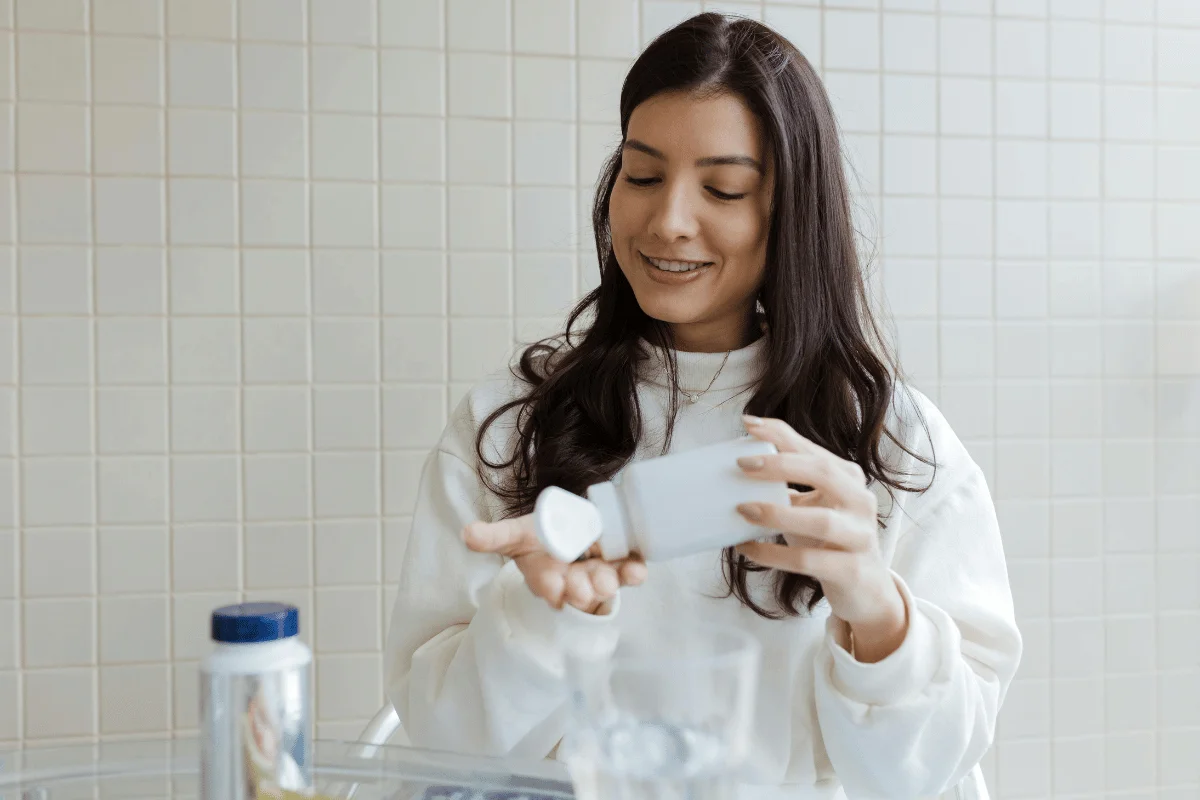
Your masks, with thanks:
[(658, 95), (634, 109), (608, 207), (620, 271), (682, 350), (743, 347), (766, 269), (772, 168), (731, 94)]

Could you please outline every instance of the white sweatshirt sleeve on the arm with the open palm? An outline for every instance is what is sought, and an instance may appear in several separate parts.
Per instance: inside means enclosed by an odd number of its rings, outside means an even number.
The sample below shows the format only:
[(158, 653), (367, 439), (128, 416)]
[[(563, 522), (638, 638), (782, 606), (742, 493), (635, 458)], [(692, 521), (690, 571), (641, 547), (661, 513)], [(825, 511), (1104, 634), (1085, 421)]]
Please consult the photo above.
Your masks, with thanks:
[(606, 615), (556, 612), (512, 561), (467, 549), (463, 527), (493, 519), (496, 504), (463, 457), (473, 441), (464, 433), (461, 446), (444, 438), (421, 473), (388, 636), (386, 693), (415, 746), (544, 758), (566, 723), (559, 640), (614, 638), (620, 601)]

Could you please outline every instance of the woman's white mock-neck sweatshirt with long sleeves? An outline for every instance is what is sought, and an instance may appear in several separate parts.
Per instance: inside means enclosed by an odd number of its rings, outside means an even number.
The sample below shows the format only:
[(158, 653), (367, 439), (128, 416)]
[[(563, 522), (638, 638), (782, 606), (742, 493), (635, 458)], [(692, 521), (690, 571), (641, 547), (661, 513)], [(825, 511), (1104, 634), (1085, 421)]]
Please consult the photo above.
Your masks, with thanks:
[[(712, 389), (682, 405), (672, 452), (744, 434), (740, 415), (764, 348), (758, 339), (732, 351)], [(677, 353), (679, 385), (704, 387), (722, 357)], [(670, 408), (661, 355), (643, 363), (641, 378), (648, 433), (638, 459), (661, 451)], [(768, 620), (734, 597), (714, 599), (726, 589), (720, 553), (650, 564), (642, 587), (623, 589), (611, 613), (594, 616), (554, 612), (512, 563), (469, 552), (463, 527), (500, 516), (475, 473), (475, 434), (493, 409), (521, 393), (506, 372), (476, 386), (425, 463), (388, 637), (386, 691), (413, 744), (546, 757), (565, 727), (558, 637), (698, 620), (737, 625), (763, 646), (751, 748), (757, 777), (744, 787), (746, 796), (955, 796), (964, 780), (971, 787), (964, 796), (979, 796), (976, 765), (991, 745), (1021, 638), (983, 473), (932, 403), (908, 391), (896, 393), (889, 428), (922, 453), (931, 439), (938, 468), (924, 494), (900, 492), (894, 506), (880, 494), (881, 509), (892, 507), (882, 549), (910, 622), (900, 648), (868, 664), (847, 651), (845, 625), (830, 618), (827, 601), (811, 614)], [(490, 452), (508, 455), (511, 421), (488, 432)], [(928, 468), (910, 457), (900, 468), (913, 474), (910, 482), (928, 483)], [(750, 577), (767, 607), (773, 579), (770, 572)]]

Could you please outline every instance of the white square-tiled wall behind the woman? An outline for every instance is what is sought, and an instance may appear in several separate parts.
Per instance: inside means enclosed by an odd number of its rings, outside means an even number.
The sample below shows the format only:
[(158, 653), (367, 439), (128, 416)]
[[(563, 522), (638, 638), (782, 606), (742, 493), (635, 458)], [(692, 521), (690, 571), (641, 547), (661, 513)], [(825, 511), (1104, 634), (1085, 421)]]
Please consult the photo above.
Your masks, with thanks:
[(323, 732), (378, 708), (425, 453), (593, 285), (625, 71), (714, 7), (822, 71), (901, 356), (991, 481), (995, 795), (1200, 792), (1200, 4), (11, 5), (0, 744), (193, 728), (239, 599), (301, 607)]

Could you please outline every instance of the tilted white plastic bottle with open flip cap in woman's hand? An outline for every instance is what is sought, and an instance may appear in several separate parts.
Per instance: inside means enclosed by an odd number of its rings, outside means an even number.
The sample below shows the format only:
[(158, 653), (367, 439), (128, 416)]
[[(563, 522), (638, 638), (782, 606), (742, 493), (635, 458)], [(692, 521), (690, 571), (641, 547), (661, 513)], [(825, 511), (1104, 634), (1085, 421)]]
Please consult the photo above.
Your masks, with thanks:
[(619, 480), (594, 483), (587, 498), (544, 489), (534, 527), (546, 552), (574, 561), (600, 543), (607, 560), (640, 553), (647, 561), (721, 549), (769, 535), (737, 511), (742, 503), (788, 505), (787, 483), (749, 477), (744, 456), (776, 452), (752, 437), (635, 462)]

